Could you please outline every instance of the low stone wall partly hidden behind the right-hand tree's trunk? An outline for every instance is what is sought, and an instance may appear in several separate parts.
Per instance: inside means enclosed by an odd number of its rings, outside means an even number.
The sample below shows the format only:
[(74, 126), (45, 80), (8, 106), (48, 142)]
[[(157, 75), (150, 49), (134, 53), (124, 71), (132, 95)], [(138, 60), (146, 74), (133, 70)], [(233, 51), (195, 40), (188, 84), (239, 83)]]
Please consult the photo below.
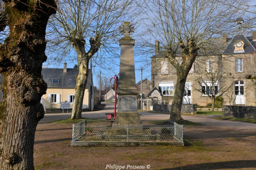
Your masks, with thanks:
[[(170, 113), (172, 105), (153, 104), (153, 112)], [(196, 114), (195, 104), (183, 104), (181, 107), (182, 114)]]

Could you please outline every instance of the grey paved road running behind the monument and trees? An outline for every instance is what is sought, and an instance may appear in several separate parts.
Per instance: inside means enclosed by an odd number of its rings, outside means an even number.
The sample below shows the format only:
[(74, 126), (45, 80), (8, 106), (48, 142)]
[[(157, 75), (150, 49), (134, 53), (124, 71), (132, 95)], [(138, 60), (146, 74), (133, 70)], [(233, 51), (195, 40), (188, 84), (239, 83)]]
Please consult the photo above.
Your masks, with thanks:
[[(91, 118), (91, 119), (106, 119), (107, 112), (113, 112), (114, 104), (112, 103), (104, 103), (105, 105), (103, 110), (100, 111), (92, 111), (92, 112), (83, 112), (82, 117)], [(142, 114), (140, 117), (143, 120), (166, 120), (169, 119), (169, 114), (160, 114), (154, 112), (139, 112)], [(216, 125), (216, 126), (225, 126), (229, 128), (239, 128), (239, 129), (250, 129), (252, 131), (256, 131), (256, 124), (246, 123), (246, 122), (235, 122), (235, 121), (222, 121), (216, 120), (212, 117), (216, 117), (220, 115), (182, 115), (182, 118), (185, 120), (189, 120), (192, 122), (204, 124), (204, 125)], [(59, 114), (45, 114), (44, 118), (40, 120), (39, 124), (45, 124), (52, 121), (66, 119), (70, 117), (70, 113), (59, 113)]]

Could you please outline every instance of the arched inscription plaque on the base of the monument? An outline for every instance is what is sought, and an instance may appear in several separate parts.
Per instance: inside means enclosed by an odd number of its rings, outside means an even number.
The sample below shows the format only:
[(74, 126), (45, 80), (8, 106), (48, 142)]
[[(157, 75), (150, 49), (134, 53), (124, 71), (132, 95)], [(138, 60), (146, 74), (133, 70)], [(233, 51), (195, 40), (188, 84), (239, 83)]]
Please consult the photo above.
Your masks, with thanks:
[(135, 103), (135, 98), (133, 97), (122, 97), (119, 100), (119, 107), (118, 107), (119, 112), (136, 112), (136, 103)]

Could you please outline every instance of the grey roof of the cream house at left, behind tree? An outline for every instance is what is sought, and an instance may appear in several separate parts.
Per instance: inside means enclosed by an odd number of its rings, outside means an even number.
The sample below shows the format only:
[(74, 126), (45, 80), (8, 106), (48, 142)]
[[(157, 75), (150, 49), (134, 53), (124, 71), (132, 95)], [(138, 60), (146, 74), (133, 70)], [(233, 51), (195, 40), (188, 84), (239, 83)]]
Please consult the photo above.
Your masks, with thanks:
[[(90, 69), (87, 78), (86, 88), (90, 88), (91, 74)], [(47, 83), (47, 87), (76, 87), (76, 76), (78, 69), (67, 69), (67, 73), (63, 73), (63, 69), (43, 68), (43, 80)], [(52, 83), (53, 79), (60, 79), (60, 83)]]

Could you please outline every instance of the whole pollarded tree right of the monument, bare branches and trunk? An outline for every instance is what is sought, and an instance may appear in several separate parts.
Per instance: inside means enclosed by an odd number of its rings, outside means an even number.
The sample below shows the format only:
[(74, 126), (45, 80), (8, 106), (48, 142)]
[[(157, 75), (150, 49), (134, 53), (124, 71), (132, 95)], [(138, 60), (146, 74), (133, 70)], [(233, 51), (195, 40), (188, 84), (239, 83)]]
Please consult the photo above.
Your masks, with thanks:
[[(224, 0), (223, 0), (224, 1)], [(181, 106), (187, 75), (199, 55), (214, 55), (207, 46), (223, 47), (215, 41), (222, 34), (232, 34), (233, 19), (239, 17), (240, 3), (233, 7), (215, 0), (145, 1), (148, 32), (160, 41), (163, 57), (176, 69), (177, 80), (170, 119), (182, 119)], [(182, 57), (182, 61), (180, 59)]]

